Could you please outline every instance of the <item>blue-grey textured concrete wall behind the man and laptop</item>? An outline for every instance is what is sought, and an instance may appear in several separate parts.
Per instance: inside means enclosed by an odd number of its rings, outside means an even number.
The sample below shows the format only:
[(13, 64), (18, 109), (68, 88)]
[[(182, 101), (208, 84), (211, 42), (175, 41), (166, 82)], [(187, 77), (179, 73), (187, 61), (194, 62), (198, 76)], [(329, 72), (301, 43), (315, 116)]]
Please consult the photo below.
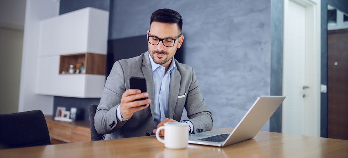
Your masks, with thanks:
[(159, 8), (183, 17), (180, 49), (196, 71), (213, 128), (235, 127), (258, 96), (270, 95), (270, 0), (115, 0), (109, 39), (144, 35)]

